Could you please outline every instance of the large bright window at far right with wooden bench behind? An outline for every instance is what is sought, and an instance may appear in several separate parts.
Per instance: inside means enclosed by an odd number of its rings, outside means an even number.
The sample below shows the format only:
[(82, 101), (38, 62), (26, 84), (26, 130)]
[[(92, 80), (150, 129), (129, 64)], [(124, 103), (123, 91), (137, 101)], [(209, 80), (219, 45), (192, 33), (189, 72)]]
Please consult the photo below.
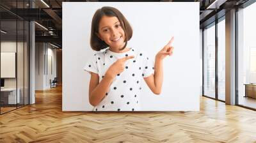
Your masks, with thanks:
[(237, 12), (237, 87), (239, 105), (256, 109), (256, 3)]

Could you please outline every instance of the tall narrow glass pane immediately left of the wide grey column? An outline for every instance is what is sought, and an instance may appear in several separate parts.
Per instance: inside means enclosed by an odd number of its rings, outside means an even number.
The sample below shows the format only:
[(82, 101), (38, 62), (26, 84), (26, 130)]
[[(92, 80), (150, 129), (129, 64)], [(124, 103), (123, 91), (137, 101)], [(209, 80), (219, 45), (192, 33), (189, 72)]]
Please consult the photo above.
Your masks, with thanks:
[(218, 100), (225, 101), (225, 17), (218, 22)]

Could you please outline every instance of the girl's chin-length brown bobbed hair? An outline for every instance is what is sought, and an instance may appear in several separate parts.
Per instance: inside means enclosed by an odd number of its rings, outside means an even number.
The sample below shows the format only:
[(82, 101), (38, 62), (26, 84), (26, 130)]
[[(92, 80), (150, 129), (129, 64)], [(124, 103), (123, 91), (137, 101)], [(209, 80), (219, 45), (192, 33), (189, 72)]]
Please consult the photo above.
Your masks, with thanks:
[(120, 24), (124, 29), (124, 33), (125, 33), (125, 40), (124, 40), (125, 45), (120, 50), (124, 50), (127, 45), (127, 41), (129, 41), (132, 37), (132, 27), (130, 26), (129, 22), (125, 19), (124, 15), (119, 10), (110, 6), (104, 6), (100, 8), (93, 15), (91, 40), (90, 40), (92, 49), (99, 51), (109, 47), (109, 45), (104, 41), (102, 41), (96, 34), (96, 33), (99, 34), (99, 22), (104, 15), (108, 17), (117, 17), (117, 19), (120, 21)]

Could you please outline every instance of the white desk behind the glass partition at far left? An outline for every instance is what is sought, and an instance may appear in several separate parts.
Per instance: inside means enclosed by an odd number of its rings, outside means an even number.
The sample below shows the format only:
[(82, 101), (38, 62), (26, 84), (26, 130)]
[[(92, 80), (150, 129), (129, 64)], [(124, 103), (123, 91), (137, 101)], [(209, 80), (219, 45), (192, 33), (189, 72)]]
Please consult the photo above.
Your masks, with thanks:
[(16, 101), (17, 103), (20, 103), (20, 89), (17, 88), (17, 91), (18, 94), (16, 98), (16, 88), (1, 89), (1, 100), (6, 104), (16, 104)]

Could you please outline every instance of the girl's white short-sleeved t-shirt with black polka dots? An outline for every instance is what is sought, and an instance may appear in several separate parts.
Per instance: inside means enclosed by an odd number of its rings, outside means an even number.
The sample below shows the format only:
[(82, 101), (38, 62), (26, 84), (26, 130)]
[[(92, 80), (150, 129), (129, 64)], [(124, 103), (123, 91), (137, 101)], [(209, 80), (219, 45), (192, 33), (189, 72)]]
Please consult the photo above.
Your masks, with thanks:
[(134, 56), (125, 62), (124, 72), (116, 75), (106, 96), (93, 108), (93, 111), (135, 111), (140, 110), (140, 91), (143, 77), (154, 73), (154, 60), (137, 49), (131, 48), (127, 52), (116, 53), (109, 49), (97, 52), (89, 59), (84, 70), (99, 75), (99, 82), (109, 66), (117, 59)]

